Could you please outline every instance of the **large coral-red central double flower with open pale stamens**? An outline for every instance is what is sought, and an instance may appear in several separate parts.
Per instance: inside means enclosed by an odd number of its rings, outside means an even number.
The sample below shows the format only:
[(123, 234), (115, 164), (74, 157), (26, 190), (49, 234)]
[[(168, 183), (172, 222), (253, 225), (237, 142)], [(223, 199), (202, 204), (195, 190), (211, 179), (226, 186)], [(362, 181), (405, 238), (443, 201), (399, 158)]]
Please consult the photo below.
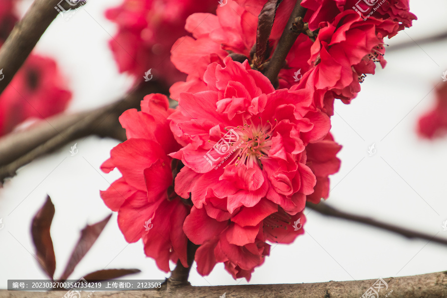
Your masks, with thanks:
[(183, 148), (171, 156), (185, 167), (175, 190), (202, 208), (207, 195), (227, 197), (227, 210), (253, 207), (261, 198), (290, 214), (304, 208), (316, 178), (305, 146), (322, 140), (329, 118), (309, 107), (306, 90), (276, 90), (248, 62), (224, 59), (205, 73), (207, 91), (181, 93), (171, 129)]

